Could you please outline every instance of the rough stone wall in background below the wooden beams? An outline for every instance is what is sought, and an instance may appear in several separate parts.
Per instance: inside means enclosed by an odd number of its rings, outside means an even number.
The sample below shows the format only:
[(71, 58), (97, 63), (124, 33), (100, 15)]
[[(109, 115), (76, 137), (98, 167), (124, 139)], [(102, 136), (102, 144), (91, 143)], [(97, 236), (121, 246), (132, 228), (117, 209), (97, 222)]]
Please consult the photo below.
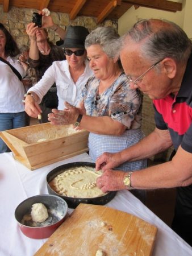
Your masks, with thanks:
[[(3, 13), (3, 6), (0, 5), (0, 22), (3, 23), (10, 31), (11, 35), (14, 36), (18, 46), (29, 44), (26, 26), (31, 22), (33, 12), (37, 12), (37, 10), (11, 7), (8, 13)], [(92, 31), (97, 27), (108, 26), (114, 27), (116, 31), (118, 31), (118, 20), (106, 19), (103, 23), (97, 24), (94, 18), (87, 16), (77, 16), (74, 20), (69, 20), (69, 15), (64, 13), (52, 12), (51, 16), (53, 21), (64, 29), (69, 25), (80, 25)], [(48, 30), (48, 36), (53, 43), (59, 40), (59, 36), (50, 29)]]

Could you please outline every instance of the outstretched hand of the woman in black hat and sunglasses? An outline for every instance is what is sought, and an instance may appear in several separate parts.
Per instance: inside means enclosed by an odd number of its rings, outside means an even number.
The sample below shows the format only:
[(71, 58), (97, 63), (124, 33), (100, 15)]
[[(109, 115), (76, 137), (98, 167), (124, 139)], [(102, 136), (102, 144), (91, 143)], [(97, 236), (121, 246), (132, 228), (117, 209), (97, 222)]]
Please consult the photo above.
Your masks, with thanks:
[(25, 100), (24, 111), (30, 115), (30, 117), (37, 118), (42, 113), (40, 106), (35, 101), (34, 97), (28, 95)]

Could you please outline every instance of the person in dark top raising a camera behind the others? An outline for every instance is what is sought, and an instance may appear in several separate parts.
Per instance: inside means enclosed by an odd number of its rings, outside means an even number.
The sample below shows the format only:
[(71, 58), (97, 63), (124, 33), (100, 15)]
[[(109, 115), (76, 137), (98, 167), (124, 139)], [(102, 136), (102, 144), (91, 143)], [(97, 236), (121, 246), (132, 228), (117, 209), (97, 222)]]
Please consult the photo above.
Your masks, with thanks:
[[(65, 30), (56, 26), (52, 22), (51, 16), (43, 17), (43, 19), (47, 22), (45, 25), (51, 26), (54, 31), (64, 38)], [(60, 47), (49, 41), (48, 32), (45, 28), (39, 28), (36, 23), (29, 23), (26, 32), (30, 38), (29, 64), (31, 68), (35, 68), (36, 82), (38, 82), (53, 61), (65, 60), (65, 55)], [(41, 101), (41, 109), (43, 110), (42, 122), (48, 122), (48, 113), (51, 112), (52, 108), (57, 108), (57, 105), (56, 85), (53, 83)]]

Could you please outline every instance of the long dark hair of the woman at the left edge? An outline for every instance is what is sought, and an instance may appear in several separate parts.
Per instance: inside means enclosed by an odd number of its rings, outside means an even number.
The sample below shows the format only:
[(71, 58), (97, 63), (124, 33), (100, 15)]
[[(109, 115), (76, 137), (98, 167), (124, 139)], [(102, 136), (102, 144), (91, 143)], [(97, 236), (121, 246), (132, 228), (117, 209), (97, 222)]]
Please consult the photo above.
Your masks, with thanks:
[(0, 23), (0, 30), (3, 31), (6, 37), (6, 44), (5, 44), (5, 55), (10, 57), (15, 57), (20, 53), (18, 45), (16, 44), (15, 40), (12, 38), (10, 32), (5, 28), (5, 26)]

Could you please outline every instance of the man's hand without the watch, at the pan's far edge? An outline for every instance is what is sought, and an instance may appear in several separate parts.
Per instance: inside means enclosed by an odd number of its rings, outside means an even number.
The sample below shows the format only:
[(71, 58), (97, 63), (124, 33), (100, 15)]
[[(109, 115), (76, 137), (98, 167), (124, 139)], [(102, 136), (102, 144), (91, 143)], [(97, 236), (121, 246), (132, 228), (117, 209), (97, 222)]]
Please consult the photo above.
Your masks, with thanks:
[(120, 166), (123, 161), (121, 159), (120, 152), (117, 153), (103, 153), (101, 156), (99, 156), (96, 160), (96, 170), (103, 170), (106, 171), (107, 169), (112, 169), (115, 167)]

